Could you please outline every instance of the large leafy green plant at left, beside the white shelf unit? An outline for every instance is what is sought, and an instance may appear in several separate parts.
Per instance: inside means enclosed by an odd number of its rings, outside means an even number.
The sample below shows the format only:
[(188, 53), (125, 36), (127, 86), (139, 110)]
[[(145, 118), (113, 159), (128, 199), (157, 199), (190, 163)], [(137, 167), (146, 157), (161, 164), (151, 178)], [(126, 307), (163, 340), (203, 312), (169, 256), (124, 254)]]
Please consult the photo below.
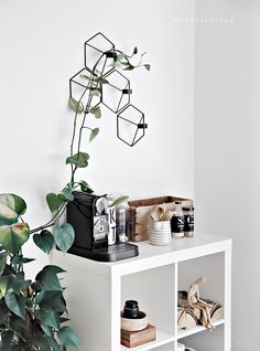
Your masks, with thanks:
[[(35, 230), (23, 220), (26, 204), (15, 194), (0, 194), (0, 350), (64, 351), (78, 348), (67, 319), (58, 266), (47, 265), (29, 280), (25, 265), (34, 258), (23, 255), (23, 246)], [(37, 236), (37, 245), (50, 253), (54, 238), (48, 231)], [(63, 245), (71, 245), (71, 236)], [(64, 247), (63, 247), (64, 248)]]

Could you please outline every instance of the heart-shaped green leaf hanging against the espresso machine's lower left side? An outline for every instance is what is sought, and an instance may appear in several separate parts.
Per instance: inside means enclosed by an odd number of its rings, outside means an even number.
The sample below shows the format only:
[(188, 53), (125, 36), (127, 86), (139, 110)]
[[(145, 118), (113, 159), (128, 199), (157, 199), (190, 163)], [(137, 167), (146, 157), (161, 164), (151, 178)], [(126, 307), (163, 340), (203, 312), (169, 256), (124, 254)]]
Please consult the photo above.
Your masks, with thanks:
[(73, 245), (75, 232), (71, 224), (57, 226), (53, 233), (57, 247), (65, 254)]

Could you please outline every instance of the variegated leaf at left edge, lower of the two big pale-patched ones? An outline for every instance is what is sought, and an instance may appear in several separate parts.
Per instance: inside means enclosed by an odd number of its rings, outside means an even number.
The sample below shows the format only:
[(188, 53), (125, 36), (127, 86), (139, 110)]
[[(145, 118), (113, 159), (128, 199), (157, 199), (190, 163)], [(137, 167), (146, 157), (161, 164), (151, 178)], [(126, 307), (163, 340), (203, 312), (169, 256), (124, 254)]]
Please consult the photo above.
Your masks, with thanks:
[(10, 253), (15, 254), (29, 240), (29, 225), (15, 223), (0, 226), (0, 244)]

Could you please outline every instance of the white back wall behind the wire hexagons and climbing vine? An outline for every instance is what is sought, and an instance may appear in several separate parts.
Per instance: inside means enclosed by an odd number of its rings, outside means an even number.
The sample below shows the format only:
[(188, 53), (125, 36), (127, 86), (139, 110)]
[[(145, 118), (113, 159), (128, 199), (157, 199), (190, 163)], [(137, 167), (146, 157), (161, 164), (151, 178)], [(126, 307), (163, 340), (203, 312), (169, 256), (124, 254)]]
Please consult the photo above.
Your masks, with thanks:
[(126, 52), (149, 52), (151, 73), (129, 74), (149, 129), (129, 148), (104, 108), (80, 178), (132, 198), (193, 196), (194, 28), (173, 19), (194, 15), (194, 0), (0, 2), (0, 192), (25, 198), (31, 226), (48, 219), (45, 194), (68, 180), (68, 78), (83, 66), (84, 41), (98, 31)]

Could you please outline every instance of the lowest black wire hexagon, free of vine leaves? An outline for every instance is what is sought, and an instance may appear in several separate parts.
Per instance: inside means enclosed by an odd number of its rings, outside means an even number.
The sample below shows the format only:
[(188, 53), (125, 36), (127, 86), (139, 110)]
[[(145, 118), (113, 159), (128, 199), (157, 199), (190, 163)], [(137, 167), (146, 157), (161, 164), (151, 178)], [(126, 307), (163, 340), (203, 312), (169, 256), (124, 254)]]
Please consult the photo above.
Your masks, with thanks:
[(131, 147), (144, 136), (147, 128), (144, 114), (133, 105), (128, 105), (117, 116), (117, 136)]

